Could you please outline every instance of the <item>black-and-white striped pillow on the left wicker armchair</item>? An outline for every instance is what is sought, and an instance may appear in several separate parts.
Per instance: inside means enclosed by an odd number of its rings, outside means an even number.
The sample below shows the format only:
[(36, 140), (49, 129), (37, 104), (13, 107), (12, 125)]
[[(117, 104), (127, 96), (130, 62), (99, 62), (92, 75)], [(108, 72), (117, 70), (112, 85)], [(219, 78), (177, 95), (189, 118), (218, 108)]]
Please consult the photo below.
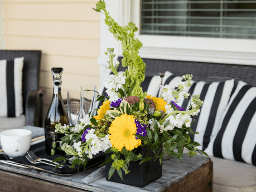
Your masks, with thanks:
[(22, 58), (0, 60), (0, 117), (19, 117), (22, 107)]

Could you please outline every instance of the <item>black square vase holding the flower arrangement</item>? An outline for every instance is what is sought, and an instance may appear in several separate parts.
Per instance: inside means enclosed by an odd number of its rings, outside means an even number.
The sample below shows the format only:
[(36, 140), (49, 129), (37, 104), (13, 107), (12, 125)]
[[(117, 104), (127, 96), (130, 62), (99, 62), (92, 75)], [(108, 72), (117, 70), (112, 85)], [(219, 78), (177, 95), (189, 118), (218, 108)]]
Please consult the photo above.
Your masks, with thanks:
[[(138, 147), (136, 151), (136, 155), (139, 155), (139, 153), (142, 155), (142, 159), (147, 157), (147, 150), (149, 153), (149, 157), (154, 157), (154, 152), (149, 148), (148, 145)], [(162, 149), (159, 152), (159, 155), (162, 153)], [(106, 154), (106, 159), (111, 156), (112, 153)], [(121, 159), (124, 160), (124, 155), (121, 155)], [(120, 178), (120, 176), (117, 173), (117, 170), (115, 170), (112, 177), (108, 180), (108, 172), (111, 168), (112, 162), (109, 162), (106, 164), (106, 179), (108, 181), (113, 181), (117, 183), (123, 183), (127, 185), (132, 185), (136, 187), (144, 187), (148, 185), (149, 183), (159, 179), (162, 176), (162, 164), (160, 164), (159, 159), (157, 160), (151, 160), (145, 161), (142, 164), (139, 165), (141, 160), (138, 161), (131, 161), (130, 166), (128, 167), (128, 171), (130, 171), (128, 174), (125, 174), (122, 170), (123, 174), (123, 181)]]

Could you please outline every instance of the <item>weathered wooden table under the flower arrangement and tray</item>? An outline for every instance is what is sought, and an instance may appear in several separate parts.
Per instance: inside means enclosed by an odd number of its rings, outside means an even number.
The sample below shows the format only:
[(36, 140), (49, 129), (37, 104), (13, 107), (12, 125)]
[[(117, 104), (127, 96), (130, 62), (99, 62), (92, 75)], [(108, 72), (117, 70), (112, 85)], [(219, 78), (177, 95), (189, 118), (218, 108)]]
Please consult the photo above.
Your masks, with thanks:
[(106, 181), (105, 177), (85, 183), (84, 178), (97, 169), (61, 177), (0, 164), (0, 192), (211, 192), (213, 186), (213, 162), (201, 155), (190, 158), (184, 154), (182, 162), (164, 160), (162, 177), (142, 188)]

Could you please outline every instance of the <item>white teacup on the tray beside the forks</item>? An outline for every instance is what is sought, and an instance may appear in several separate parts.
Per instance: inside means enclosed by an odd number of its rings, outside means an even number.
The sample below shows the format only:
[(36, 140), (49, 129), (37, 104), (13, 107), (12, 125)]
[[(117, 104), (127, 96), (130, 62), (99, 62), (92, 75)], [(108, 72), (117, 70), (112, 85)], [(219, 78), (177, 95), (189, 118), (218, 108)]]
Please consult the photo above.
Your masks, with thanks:
[(11, 158), (23, 156), (30, 148), (32, 132), (27, 129), (9, 129), (0, 133), (2, 148)]

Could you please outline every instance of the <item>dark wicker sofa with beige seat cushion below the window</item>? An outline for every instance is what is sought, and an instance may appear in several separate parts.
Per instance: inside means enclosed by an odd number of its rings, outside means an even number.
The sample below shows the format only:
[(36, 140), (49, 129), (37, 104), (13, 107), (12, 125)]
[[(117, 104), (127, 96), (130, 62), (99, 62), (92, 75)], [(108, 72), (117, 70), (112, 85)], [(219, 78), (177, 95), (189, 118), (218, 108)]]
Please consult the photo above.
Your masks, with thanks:
[[(119, 57), (118, 60), (121, 63), (122, 57)], [(159, 73), (165, 73), (165, 71), (170, 71), (172, 74), (178, 76), (193, 74), (193, 80), (205, 81), (206, 83), (222, 82), (225, 80), (235, 79), (233, 81), (234, 87), (232, 88), (228, 101), (230, 100), (232, 94), (234, 94), (239, 80), (256, 86), (256, 66), (171, 61), (160, 59), (143, 60), (146, 63), (145, 81), (148, 80), (142, 85), (143, 91), (150, 92), (149, 87), (152, 88), (152, 86), (149, 86), (151, 83), (149, 79), (154, 75), (159, 75)], [(125, 70), (121, 64), (117, 69), (119, 71)], [(104, 92), (106, 91), (104, 87), (101, 87), (100, 92), (101, 91), (103, 94), (106, 94)], [(254, 107), (256, 107), (256, 105)], [(224, 108), (226, 108), (226, 106), (224, 106)], [(209, 138), (212, 139), (212, 137), (213, 135), (211, 135)], [(210, 157), (213, 160), (213, 192), (256, 192), (255, 164), (251, 165), (245, 162), (240, 162), (243, 160), (229, 160), (227, 158), (220, 158), (214, 155)]]

